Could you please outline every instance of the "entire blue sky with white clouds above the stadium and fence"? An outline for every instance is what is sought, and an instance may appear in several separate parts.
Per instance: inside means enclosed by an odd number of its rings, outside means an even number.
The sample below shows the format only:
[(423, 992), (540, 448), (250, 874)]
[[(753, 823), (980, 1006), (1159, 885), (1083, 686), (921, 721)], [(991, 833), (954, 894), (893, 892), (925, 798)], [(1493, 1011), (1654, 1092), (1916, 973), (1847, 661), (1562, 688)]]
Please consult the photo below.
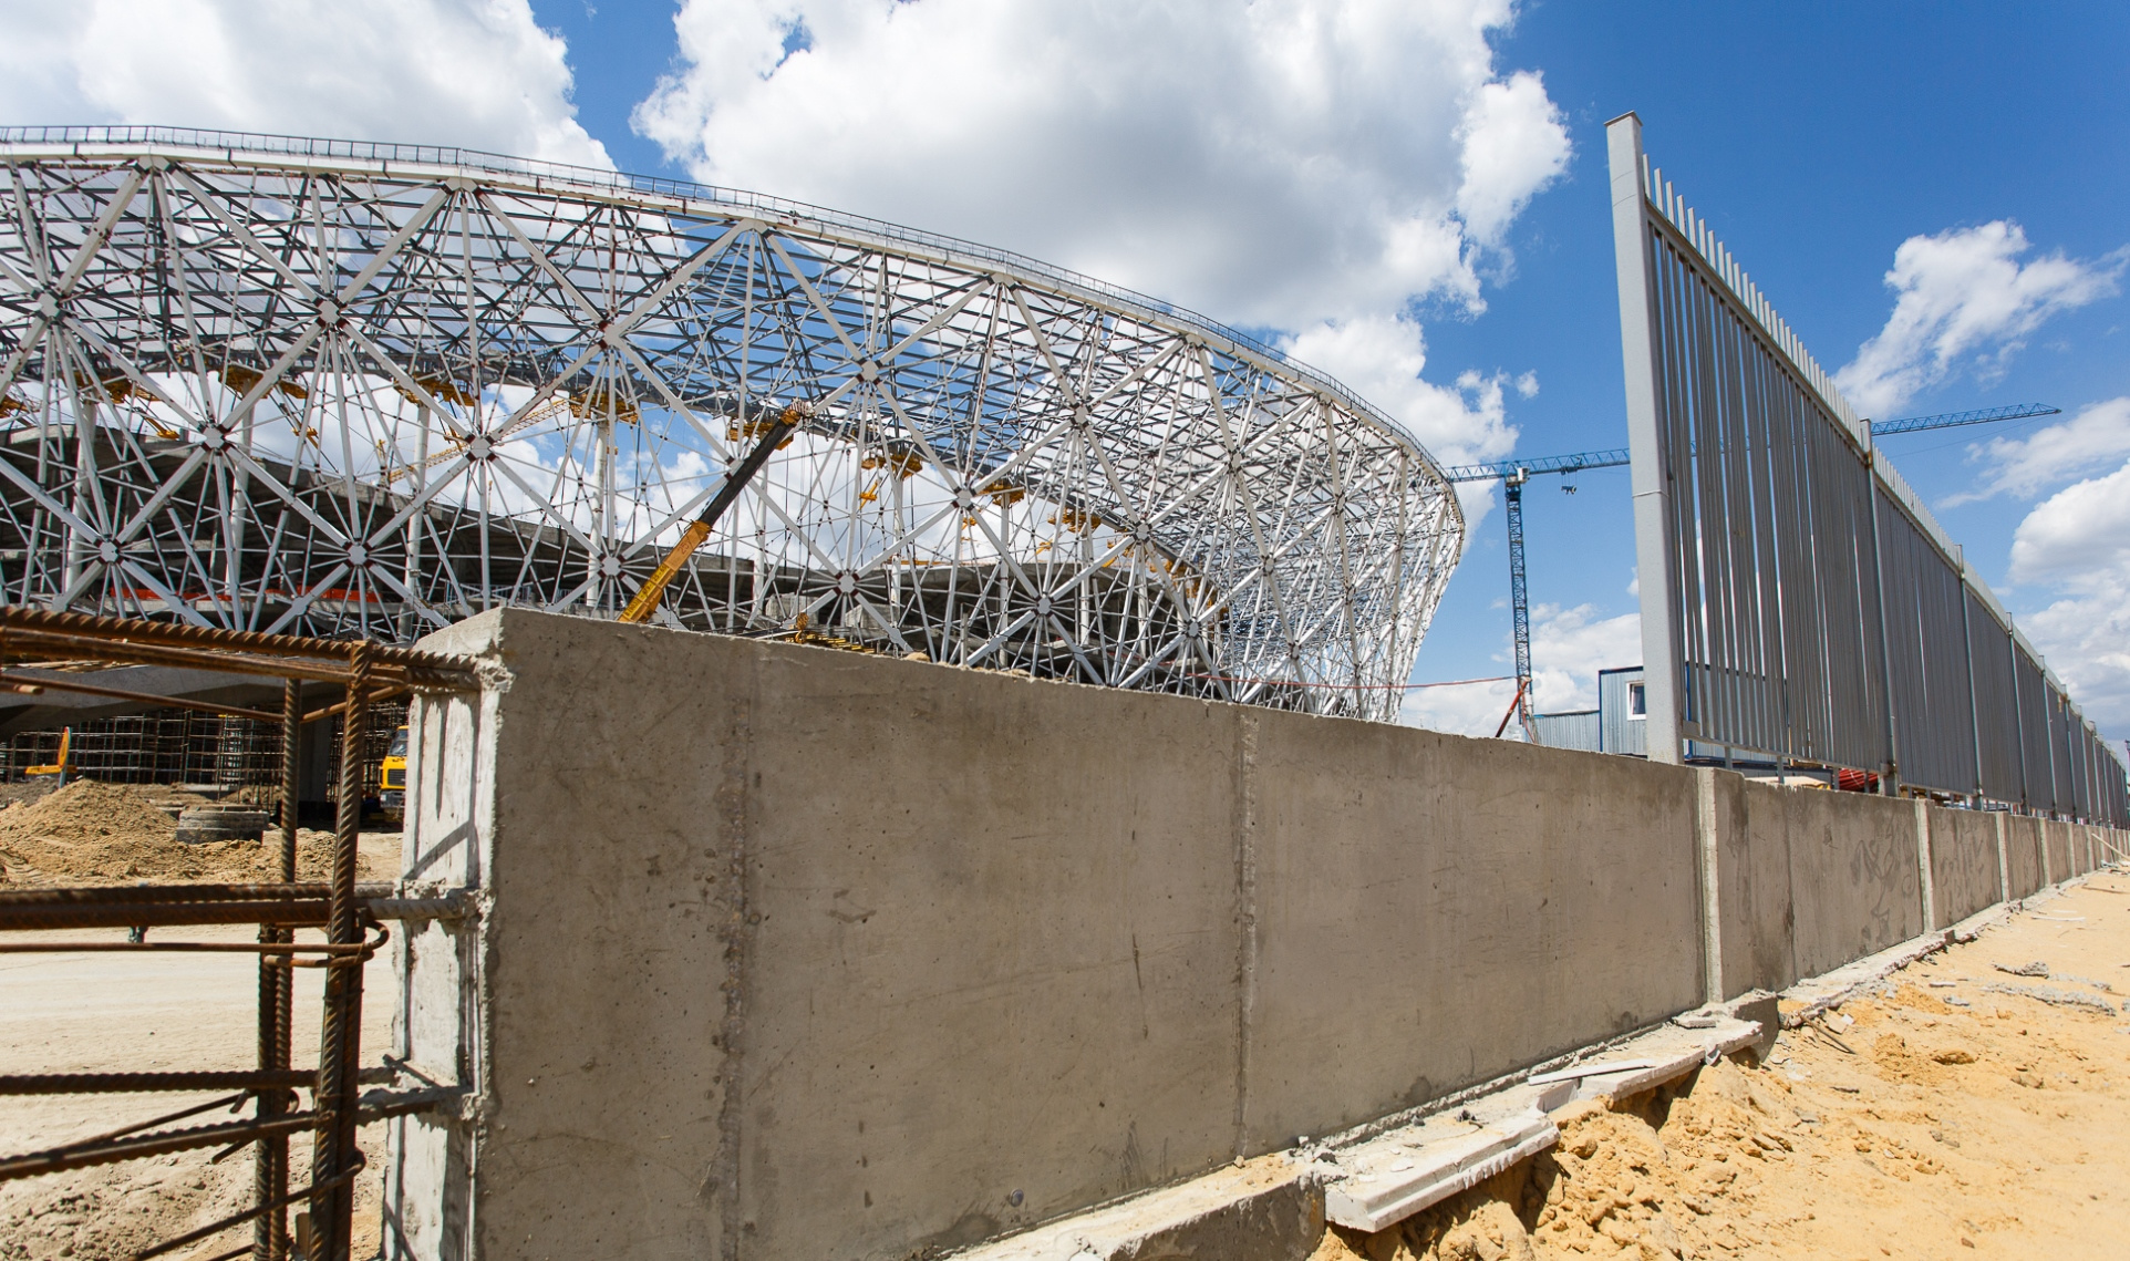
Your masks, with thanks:
[[(1252, 330), (1444, 462), (1625, 445), (1606, 119), (2130, 737), (2130, 6), (15, 0), (0, 124), (456, 143), (878, 215)], [(1568, 488), (1574, 488), (1570, 494)], [(1510, 671), (1497, 496), (1414, 682)], [(1625, 469), (1525, 494), (1542, 709), (1638, 665)], [(1493, 731), (1504, 682), (1406, 720)]]

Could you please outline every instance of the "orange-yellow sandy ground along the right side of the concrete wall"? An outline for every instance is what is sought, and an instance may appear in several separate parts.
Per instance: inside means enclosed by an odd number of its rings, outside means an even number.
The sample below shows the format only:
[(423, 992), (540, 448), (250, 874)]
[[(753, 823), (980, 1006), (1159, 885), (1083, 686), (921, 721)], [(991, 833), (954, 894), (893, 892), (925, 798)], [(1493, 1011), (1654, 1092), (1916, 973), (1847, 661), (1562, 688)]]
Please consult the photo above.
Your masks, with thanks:
[(2098, 873), (1314, 1261), (2130, 1257), (2124, 990), (2130, 878)]

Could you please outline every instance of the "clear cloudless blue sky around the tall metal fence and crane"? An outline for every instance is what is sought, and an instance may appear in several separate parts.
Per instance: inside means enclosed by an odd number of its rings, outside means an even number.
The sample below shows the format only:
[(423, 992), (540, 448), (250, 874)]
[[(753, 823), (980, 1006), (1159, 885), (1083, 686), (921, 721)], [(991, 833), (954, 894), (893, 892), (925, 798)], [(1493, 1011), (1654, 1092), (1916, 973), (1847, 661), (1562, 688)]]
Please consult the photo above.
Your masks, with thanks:
[[(1534, 4), (1495, 40), (1510, 66), (1544, 68), (1570, 117), (1568, 177), (1534, 198), (1517, 275), (1478, 320), (1429, 324), (1433, 360), (1536, 369), (1514, 409), (1521, 454), (1621, 445), (1621, 362), (1604, 121), (1640, 113), (1644, 145), (1708, 215), (1783, 315), (1834, 369), (1885, 324), (1894, 249), (1915, 234), (2011, 217), (2036, 251), (2096, 258), (2130, 241), (2130, 9), (2111, 4)], [(1906, 415), (2041, 400), (2075, 411), (2130, 392), (2124, 300), (2051, 320), (1998, 379), (1962, 373)], [(2030, 505), (1943, 501), (1972, 486), (1985, 432), (1887, 439), (1896, 466), (1970, 550), (2015, 611), (2013, 530)], [(1534, 601), (1634, 609), (1625, 471), (1589, 473), (1566, 496), (1527, 494)], [(1419, 677), (1493, 673), (1506, 611), (1500, 515), (1480, 537)], [(2032, 592), (2041, 596), (2041, 592)], [(2045, 599), (2045, 596), (2041, 596)], [(2126, 714), (2113, 735), (2130, 735)]]

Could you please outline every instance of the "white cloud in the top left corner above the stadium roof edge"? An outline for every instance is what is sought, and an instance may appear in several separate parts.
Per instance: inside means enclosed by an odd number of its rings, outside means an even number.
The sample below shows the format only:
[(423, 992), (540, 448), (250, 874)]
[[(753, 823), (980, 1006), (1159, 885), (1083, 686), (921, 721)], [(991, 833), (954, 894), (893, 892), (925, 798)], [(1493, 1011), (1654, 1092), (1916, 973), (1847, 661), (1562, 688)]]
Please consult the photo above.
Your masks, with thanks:
[(79, 0), (0, 11), (0, 121), (464, 145), (611, 166), (526, 0)]

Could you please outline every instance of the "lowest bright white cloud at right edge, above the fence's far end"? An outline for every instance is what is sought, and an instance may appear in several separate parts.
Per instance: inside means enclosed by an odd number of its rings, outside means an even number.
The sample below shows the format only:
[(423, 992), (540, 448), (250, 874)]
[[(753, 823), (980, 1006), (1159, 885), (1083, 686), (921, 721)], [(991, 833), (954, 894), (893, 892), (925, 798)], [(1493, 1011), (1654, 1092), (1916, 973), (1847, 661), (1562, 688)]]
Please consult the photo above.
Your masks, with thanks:
[(2130, 728), (2130, 464), (2038, 503), (2013, 535), (2011, 573), (2055, 592), (2019, 624), (2085, 716)]

